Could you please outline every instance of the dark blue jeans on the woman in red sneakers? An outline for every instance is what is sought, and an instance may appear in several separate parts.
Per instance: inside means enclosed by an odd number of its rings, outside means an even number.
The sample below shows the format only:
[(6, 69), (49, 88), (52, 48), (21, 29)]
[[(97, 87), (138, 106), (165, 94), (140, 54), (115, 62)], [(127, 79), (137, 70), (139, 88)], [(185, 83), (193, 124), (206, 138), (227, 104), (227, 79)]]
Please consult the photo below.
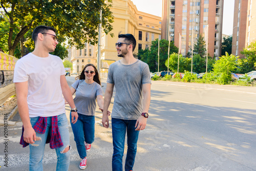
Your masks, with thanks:
[[(70, 114), (71, 121), (71, 114)], [(87, 156), (86, 154), (86, 145), (84, 141), (88, 144), (93, 143), (94, 141), (94, 129), (95, 126), (95, 117), (78, 114), (78, 119), (75, 124), (71, 123), (71, 127), (74, 133), (75, 142), (78, 154), (81, 159)]]

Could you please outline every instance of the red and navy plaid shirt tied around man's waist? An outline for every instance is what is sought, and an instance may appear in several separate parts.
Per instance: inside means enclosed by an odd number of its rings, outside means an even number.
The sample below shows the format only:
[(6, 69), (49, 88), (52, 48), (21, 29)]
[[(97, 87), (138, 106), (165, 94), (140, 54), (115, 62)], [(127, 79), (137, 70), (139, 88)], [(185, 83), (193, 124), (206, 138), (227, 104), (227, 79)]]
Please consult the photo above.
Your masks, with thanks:
[[(46, 127), (47, 127), (47, 118), (48, 117), (39, 117), (35, 125), (33, 126), (33, 129), (35, 132), (39, 134), (45, 134)], [(63, 143), (61, 141), (61, 137), (59, 134), (59, 128), (58, 128), (58, 116), (52, 116), (52, 126), (51, 131), (49, 130), (46, 143), (50, 143), (50, 148), (55, 149), (63, 146)], [(20, 137), (19, 144), (22, 144), (23, 147), (26, 147), (29, 145), (26, 141), (24, 141), (23, 138), (24, 134), (24, 126), (22, 126), (22, 137)]]

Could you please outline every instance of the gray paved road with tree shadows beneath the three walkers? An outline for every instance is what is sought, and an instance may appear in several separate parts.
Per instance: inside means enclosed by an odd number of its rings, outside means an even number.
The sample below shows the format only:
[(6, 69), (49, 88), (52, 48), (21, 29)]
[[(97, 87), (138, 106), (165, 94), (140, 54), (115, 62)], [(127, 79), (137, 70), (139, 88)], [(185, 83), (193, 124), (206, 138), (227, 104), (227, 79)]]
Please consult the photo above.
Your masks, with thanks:
[[(102, 85), (104, 89), (105, 79)], [(256, 170), (255, 87), (152, 81), (151, 95), (150, 118), (140, 132), (134, 170)], [(111, 170), (111, 127), (101, 126), (101, 116), (97, 110), (86, 170)], [(18, 124), (8, 127), (8, 168), (2, 164), (4, 127), (0, 129), (2, 170), (28, 170), (29, 148), (18, 145)], [(79, 170), (71, 127), (70, 137), (70, 170)], [(46, 145), (45, 170), (55, 170), (55, 161), (54, 150)]]

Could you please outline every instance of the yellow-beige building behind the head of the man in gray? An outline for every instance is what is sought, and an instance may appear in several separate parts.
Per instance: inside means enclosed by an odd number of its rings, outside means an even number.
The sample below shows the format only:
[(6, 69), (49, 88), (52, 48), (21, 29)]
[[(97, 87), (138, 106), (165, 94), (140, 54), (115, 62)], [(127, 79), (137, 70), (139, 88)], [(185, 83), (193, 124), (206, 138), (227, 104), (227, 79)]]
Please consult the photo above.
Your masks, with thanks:
[[(106, 76), (109, 65), (120, 59), (117, 56), (115, 46), (119, 32), (121, 34), (130, 33), (135, 36), (137, 45), (134, 54), (138, 54), (139, 49), (150, 48), (151, 41), (161, 38), (161, 17), (138, 11), (131, 0), (113, 0), (111, 11), (114, 15), (114, 23), (112, 23), (113, 30), (111, 31), (114, 33), (114, 37), (102, 32), (101, 76)], [(73, 62), (73, 72), (81, 72), (82, 66), (85, 66), (87, 63), (97, 65), (97, 46), (92, 46), (90, 62), (88, 61), (88, 54), (84, 55), (83, 51), (83, 49), (75, 50), (75, 48), (72, 48), (71, 60)], [(82, 59), (84, 59), (83, 63), (81, 62)]]

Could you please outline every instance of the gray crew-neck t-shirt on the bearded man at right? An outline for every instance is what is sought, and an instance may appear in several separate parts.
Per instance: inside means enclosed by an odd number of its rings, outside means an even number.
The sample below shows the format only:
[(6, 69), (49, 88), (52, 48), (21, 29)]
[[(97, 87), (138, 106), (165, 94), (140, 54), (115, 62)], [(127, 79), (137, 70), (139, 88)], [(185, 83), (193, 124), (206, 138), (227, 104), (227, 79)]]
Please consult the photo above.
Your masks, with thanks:
[(106, 82), (116, 89), (112, 118), (138, 119), (143, 109), (142, 84), (151, 83), (148, 65), (141, 60), (131, 65), (116, 61), (110, 65)]

